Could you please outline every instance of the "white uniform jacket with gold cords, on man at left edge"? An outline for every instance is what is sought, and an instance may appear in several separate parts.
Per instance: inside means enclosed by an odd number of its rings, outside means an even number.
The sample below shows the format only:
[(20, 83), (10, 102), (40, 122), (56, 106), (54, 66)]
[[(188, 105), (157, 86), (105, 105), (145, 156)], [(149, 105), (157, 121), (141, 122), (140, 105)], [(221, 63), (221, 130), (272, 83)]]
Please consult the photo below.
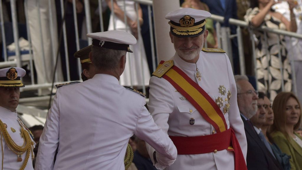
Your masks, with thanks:
[[(17, 145), (22, 146), (24, 143), (24, 138), (22, 138), (21, 134), (20, 134), (21, 126), (18, 122), (18, 114), (16, 112), (12, 112), (12, 111), (0, 106), (0, 119), (3, 123), (5, 123), (7, 125), (6, 130), (7, 130), (8, 134), (11, 136), (11, 139), (13, 139)], [(11, 128), (13, 128), (13, 129), (11, 129)], [(15, 130), (15, 132), (13, 132), (14, 130)], [(31, 138), (31, 140), (32, 140), (32, 138)], [(17, 154), (12, 152), (11, 149), (8, 148), (8, 145), (6, 144), (3, 136), (2, 136), (2, 146), (3, 146), (3, 152), (4, 152), (3, 169), (19, 170), (25, 160), (26, 152), (24, 152), (21, 156), (22, 161), (18, 162)], [(1, 145), (0, 145), (0, 149), (1, 149)], [(31, 152), (29, 159), (27, 161), (25, 170), (34, 169), (32, 162), (33, 162), (33, 160), (32, 160), (32, 152)], [(2, 168), (2, 150), (0, 150), (0, 168)]]

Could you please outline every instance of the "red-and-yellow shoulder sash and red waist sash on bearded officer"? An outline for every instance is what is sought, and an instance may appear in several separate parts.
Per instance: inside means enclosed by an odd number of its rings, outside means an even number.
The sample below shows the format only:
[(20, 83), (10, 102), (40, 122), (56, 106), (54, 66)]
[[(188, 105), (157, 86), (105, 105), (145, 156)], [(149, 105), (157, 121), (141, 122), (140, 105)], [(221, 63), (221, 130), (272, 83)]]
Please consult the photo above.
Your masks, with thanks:
[[(164, 61), (159, 63), (159, 66), (156, 70), (161, 69), (160, 67)], [(172, 64), (173, 65), (173, 64)], [(163, 71), (165, 73), (163, 73)], [(223, 116), (222, 111), (214, 102), (214, 100), (197, 84), (195, 83), (188, 75), (186, 75), (181, 69), (173, 65), (171, 68), (162, 68), (162, 71), (159, 71), (160, 74), (163, 74), (161, 77), (169, 81), (175, 89), (181, 93), (201, 114), (201, 116), (209, 122), (217, 131), (215, 138), (212, 135), (208, 136), (195, 136), (195, 137), (180, 137), (180, 136), (170, 136), (172, 141), (175, 144), (179, 144), (176, 148), (179, 153), (182, 154), (201, 154), (208, 152), (217, 152), (220, 150), (227, 149), (229, 151), (234, 151), (235, 157), (235, 170), (242, 170), (246, 168), (246, 162), (243, 157), (239, 142), (235, 136), (233, 129), (227, 129), (226, 120)], [(220, 137), (228, 140), (221, 139)], [(203, 139), (207, 140), (202, 144), (200, 141)], [(217, 141), (220, 141), (220, 143)], [(183, 147), (183, 142), (189, 142), (186, 146), (194, 146), (192, 149)], [(195, 146), (199, 142), (199, 146)], [(217, 146), (217, 149), (204, 149), (209, 148), (208, 144), (214, 144), (213, 147)], [(201, 146), (202, 145), (202, 146)], [(176, 146), (176, 145), (175, 145)], [(196, 148), (198, 147), (198, 149)], [(211, 151), (213, 150), (213, 151)]]

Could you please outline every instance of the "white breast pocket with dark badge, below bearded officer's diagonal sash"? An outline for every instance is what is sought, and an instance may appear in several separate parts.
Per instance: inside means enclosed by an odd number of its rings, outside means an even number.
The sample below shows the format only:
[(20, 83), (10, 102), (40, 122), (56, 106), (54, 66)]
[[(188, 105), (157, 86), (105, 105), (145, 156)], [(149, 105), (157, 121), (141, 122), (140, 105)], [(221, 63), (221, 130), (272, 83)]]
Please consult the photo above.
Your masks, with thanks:
[(177, 105), (180, 129), (204, 129), (204, 119), (191, 103)]

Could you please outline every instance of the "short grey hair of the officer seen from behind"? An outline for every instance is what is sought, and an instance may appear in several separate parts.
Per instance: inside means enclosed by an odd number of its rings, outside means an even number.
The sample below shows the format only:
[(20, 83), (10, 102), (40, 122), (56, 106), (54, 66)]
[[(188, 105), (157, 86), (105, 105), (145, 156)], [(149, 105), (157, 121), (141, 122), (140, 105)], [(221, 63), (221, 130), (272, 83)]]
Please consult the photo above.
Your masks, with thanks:
[(92, 46), (92, 63), (98, 70), (115, 70), (124, 55), (126, 55), (124, 50)]

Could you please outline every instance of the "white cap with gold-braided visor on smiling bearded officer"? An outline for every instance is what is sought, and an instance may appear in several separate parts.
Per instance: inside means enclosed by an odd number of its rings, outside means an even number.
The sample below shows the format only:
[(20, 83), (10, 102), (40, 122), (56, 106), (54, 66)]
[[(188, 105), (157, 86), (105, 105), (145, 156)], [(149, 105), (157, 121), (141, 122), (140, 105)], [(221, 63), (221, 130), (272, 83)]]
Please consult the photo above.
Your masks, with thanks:
[(171, 33), (178, 37), (194, 37), (205, 30), (205, 19), (210, 17), (208, 11), (193, 8), (181, 8), (169, 12), (165, 18), (169, 19)]

